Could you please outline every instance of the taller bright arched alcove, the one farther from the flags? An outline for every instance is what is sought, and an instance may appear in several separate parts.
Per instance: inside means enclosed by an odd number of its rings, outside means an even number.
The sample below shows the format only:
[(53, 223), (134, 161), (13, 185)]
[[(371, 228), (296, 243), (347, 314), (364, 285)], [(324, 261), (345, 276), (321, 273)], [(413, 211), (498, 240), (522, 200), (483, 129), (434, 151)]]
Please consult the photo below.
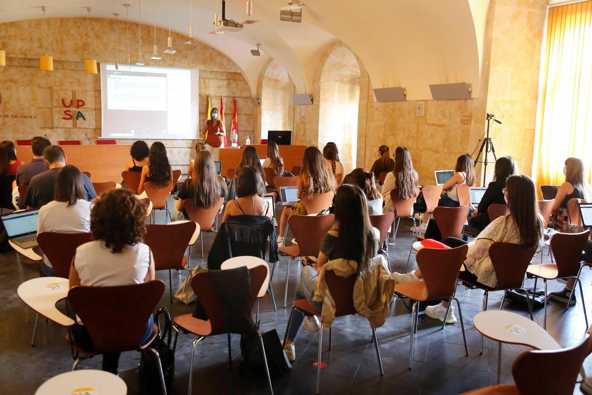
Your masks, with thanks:
[(334, 142), (346, 172), (356, 163), (360, 68), (354, 54), (337, 47), (327, 58), (320, 83), (318, 143)]

